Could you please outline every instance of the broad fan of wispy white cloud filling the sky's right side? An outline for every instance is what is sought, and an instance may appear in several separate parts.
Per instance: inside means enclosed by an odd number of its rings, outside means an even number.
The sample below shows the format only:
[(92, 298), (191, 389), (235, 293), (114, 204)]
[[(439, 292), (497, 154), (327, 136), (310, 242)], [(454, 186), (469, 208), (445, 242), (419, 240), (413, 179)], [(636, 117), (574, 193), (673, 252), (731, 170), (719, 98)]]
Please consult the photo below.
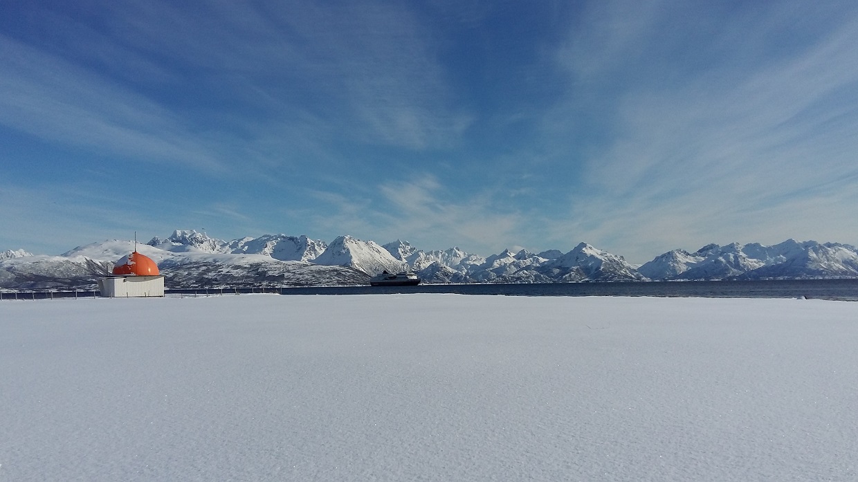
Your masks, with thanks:
[[(858, 214), (845, 202), (858, 191), (850, 154), (858, 139), (849, 135), (858, 131), (855, 11), (797, 33), (789, 26), (806, 14), (799, 3), (684, 23), (668, 18), (682, 11), (675, 3), (636, 3), (628, 11), (619, 8), (627, 3), (613, 5), (600, 9), (592, 25), (617, 38), (601, 41), (605, 33), (584, 27), (559, 53), (573, 81), (549, 117), (551, 129), (571, 112), (589, 110), (593, 102), (581, 99), (589, 93), (602, 105), (595, 119), (607, 130), (598, 132), (601, 140), (579, 167), (571, 208), (550, 237), (585, 238), (641, 262), (656, 245), (671, 243), (854, 242), (837, 220), (844, 210)], [(637, 9), (644, 12), (630, 15)], [(749, 15), (768, 18), (749, 25)], [(692, 32), (699, 22), (715, 21), (719, 29), (704, 39)], [(674, 27), (666, 39), (658, 37), (661, 25)], [(686, 50), (724, 53), (706, 57), (710, 65), (693, 64), (683, 58), (687, 51), (674, 50), (674, 38), (683, 36)], [(795, 45), (778, 45), (785, 41)], [(649, 55), (629, 60), (630, 49)], [(586, 130), (574, 119), (565, 125)], [(623, 249), (630, 239), (649, 241)]]

